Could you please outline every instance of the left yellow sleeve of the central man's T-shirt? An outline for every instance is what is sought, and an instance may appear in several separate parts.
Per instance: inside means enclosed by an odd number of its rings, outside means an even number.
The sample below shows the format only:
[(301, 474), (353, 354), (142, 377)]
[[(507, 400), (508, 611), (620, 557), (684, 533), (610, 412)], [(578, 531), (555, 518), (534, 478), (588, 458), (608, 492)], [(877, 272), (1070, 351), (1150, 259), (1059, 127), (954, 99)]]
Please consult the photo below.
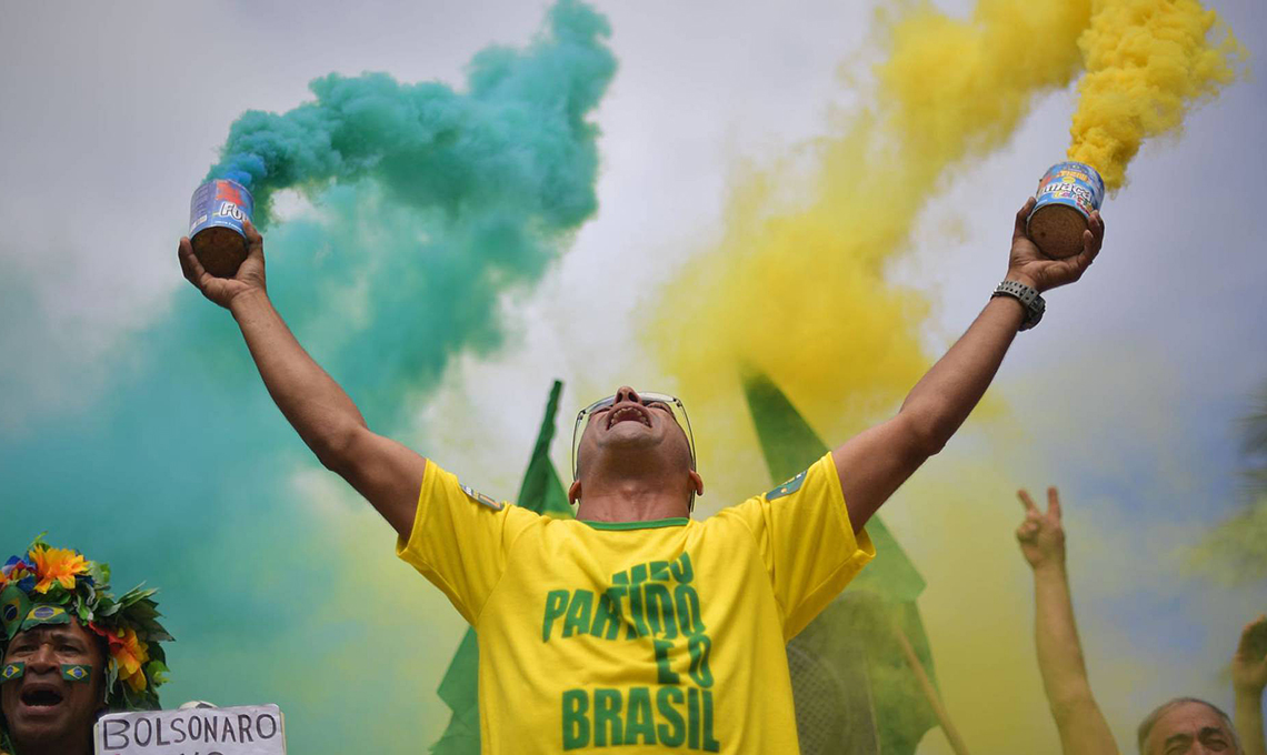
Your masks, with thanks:
[(428, 459), (413, 530), (408, 540), (397, 538), (397, 556), (440, 588), (476, 626), (506, 571), (514, 538), (537, 518), (462, 485)]

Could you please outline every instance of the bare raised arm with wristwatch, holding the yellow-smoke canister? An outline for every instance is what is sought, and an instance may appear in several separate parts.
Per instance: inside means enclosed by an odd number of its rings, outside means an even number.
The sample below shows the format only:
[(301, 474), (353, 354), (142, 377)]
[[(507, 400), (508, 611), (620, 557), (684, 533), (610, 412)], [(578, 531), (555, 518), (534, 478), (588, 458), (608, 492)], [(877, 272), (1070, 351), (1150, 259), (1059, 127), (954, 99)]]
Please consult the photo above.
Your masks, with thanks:
[[(1007, 276), (1039, 293), (1082, 277), (1100, 253), (1104, 222), (1095, 213), (1083, 251), (1049, 260), (1025, 234), (1030, 199), (1016, 213)], [(911, 389), (892, 419), (867, 429), (832, 451), (854, 531), (862, 530), (889, 495), (930, 456), (938, 454), (981, 400), (1025, 322), (1012, 296), (996, 296), (933, 369)]]

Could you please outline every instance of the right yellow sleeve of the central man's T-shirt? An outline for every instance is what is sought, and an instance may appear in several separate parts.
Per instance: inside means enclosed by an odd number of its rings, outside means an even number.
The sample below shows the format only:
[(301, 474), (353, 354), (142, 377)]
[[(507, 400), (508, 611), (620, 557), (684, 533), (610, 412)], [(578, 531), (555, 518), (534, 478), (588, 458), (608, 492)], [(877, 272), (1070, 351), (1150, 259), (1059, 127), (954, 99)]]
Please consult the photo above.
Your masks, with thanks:
[(854, 536), (831, 454), (717, 517), (741, 521), (756, 541), (786, 640), (803, 630), (875, 557), (867, 531)]

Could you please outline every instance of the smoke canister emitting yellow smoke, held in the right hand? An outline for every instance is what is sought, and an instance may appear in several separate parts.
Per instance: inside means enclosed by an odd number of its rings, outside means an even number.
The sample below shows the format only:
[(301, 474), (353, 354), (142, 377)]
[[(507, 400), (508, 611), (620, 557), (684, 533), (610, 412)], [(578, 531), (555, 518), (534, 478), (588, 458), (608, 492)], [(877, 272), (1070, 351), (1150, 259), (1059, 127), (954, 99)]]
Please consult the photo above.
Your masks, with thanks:
[(1105, 182), (1085, 162), (1058, 162), (1038, 182), (1038, 204), (1026, 220), (1026, 232), (1048, 257), (1072, 257), (1082, 251), (1082, 232), (1091, 213), (1105, 199)]

